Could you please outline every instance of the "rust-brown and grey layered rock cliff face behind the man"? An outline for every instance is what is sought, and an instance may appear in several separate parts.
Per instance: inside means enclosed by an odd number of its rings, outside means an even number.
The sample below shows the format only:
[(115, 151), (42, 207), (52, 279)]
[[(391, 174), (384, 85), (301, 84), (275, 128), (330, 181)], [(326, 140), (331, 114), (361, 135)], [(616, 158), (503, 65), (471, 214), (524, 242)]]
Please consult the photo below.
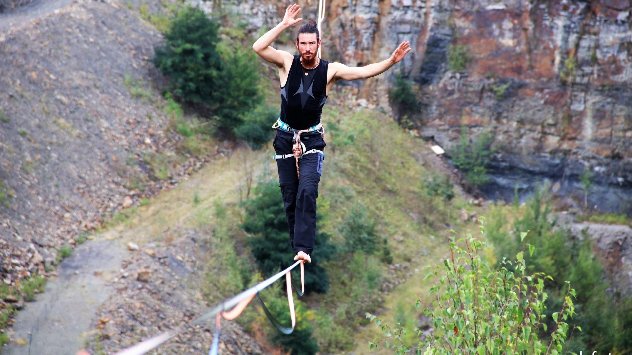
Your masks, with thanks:
[[(298, 3), (303, 18), (316, 18), (317, 1)], [(244, 1), (240, 11), (258, 30), (276, 25), (284, 7)], [(351, 84), (359, 97), (389, 107), (389, 82), (401, 73), (418, 89), (415, 125), (423, 138), (449, 150), (461, 126), (473, 140), (492, 133), (501, 147), (494, 169), (502, 176), (488, 190), (513, 196), (516, 183), (529, 190), (532, 181), (547, 179), (559, 182), (562, 195), (579, 198), (578, 174), (590, 169), (590, 203), (630, 211), (630, 11), (629, 0), (332, 0), (323, 56), (364, 65), (409, 40), (413, 51), (403, 63)], [(451, 70), (451, 49), (461, 49), (465, 69)]]

